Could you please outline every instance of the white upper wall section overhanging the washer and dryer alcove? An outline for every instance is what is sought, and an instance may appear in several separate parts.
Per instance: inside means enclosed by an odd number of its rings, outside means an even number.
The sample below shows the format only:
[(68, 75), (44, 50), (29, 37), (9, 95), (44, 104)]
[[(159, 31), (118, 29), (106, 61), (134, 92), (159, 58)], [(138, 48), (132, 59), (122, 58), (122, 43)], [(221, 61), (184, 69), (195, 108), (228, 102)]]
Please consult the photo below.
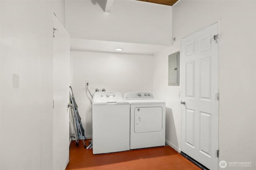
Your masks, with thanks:
[(114, 0), (105, 13), (100, 0), (66, 0), (71, 38), (171, 45), (172, 8), (137, 0)]

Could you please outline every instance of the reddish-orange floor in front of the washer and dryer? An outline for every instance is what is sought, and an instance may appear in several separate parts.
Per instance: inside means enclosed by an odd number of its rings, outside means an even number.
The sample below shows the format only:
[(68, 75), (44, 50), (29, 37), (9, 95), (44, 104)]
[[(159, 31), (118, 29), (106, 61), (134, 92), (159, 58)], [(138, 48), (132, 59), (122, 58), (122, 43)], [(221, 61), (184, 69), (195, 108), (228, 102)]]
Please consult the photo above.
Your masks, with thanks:
[[(90, 139), (86, 140), (88, 146)], [(66, 170), (200, 170), (169, 146), (93, 155), (72, 141)]]

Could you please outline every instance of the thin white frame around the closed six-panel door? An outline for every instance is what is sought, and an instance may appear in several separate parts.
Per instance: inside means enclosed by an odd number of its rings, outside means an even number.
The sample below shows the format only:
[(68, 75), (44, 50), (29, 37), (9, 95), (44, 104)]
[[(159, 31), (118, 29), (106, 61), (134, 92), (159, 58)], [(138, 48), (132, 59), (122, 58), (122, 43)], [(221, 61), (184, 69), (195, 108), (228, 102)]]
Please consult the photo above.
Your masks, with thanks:
[[(201, 30), (203, 30), (203, 29), (205, 29), (205, 28), (207, 28), (207, 27), (209, 27), (209, 26), (211, 26), (215, 23), (218, 23), (218, 93), (220, 94), (220, 20), (214, 21), (213, 23), (211, 23), (211, 24), (209, 24), (205, 27), (202, 27), (201, 29), (198, 29), (197, 31), (194, 31), (194, 32), (182, 37), (182, 39), (184, 39), (184, 38), (186, 38), (186, 37), (188, 37), (188, 36), (190, 36), (194, 33), (197, 33), (198, 31), (201, 31)], [(182, 46), (182, 39), (180, 41), (180, 49), (181, 49), (181, 46)], [(180, 53), (182, 53), (182, 51), (180, 51)], [(182, 56), (182, 54), (180, 55), (180, 57), (181, 56)], [(182, 64), (182, 63), (183, 63), (183, 61), (181, 60), (180, 64)], [(180, 73), (181, 73), (181, 76), (184, 76), (184, 72), (180, 71)], [(181, 84), (182, 83), (183, 82), (181, 82)], [(181, 88), (180, 91), (181, 91), (181, 99), (182, 99), (182, 96), (184, 95), (184, 92), (182, 92), (182, 88)], [(181, 109), (181, 113), (182, 113), (182, 107), (180, 107), (180, 109)], [(181, 114), (181, 120), (182, 120), (182, 114)], [(219, 139), (220, 131), (219, 130), (220, 130), (220, 100), (218, 100), (218, 150), (220, 150), (220, 139)], [(182, 151), (182, 121), (181, 121), (181, 138), (180, 139), (181, 139), (180, 140), (181, 141), (180, 149)], [(218, 162), (219, 162), (219, 158), (220, 158), (220, 155), (218, 155), (218, 158), (217, 158)]]

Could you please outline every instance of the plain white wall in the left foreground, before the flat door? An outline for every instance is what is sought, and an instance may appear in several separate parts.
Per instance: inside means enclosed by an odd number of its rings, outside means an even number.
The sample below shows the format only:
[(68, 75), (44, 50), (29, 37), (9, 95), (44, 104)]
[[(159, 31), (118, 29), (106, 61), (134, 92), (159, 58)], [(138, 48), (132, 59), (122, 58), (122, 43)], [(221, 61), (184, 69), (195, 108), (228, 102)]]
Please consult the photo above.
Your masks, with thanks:
[(0, 169), (50, 170), (54, 5), (0, 3)]

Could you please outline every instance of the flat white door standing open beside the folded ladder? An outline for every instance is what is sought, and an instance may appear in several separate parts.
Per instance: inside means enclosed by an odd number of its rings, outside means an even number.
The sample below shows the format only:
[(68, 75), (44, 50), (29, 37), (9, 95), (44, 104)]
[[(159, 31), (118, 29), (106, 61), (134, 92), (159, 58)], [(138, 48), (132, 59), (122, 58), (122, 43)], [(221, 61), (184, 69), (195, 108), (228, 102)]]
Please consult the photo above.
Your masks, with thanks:
[[(69, 162), (70, 36), (53, 16), (53, 168), (64, 170)], [(52, 28), (52, 30), (54, 29)]]

